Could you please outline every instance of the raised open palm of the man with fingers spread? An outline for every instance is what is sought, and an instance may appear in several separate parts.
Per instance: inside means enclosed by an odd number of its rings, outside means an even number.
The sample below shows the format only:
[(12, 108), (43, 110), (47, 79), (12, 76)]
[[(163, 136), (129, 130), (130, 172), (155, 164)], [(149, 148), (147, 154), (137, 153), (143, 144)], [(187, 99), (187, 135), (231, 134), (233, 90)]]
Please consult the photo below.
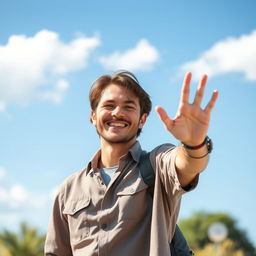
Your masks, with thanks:
[(166, 129), (170, 131), (176, 139), (190, 146), (196, 146), (201, 144), (207, 135), (210, 115), (218, 98), (218, 91), (213, 91), (210, 101), (206, 107), (202, 109), (201, 102), (207, 81), (207, 75), (203, 75), (198, 84), (194, 101), (193, 103), (189, 103), (191, 77), (191, 73), (187, 73), (184, 77), (180, 104), (174, 119), (170, 119), (167, 112), (160, 106), (156, 107), (156, 111)]

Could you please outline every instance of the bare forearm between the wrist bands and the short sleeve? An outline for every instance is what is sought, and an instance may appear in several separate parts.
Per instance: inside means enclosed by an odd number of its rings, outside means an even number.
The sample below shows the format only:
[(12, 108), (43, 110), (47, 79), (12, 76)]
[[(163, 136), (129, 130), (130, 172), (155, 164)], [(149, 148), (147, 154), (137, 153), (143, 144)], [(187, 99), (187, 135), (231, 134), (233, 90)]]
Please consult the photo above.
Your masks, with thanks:
[(206, 145), (197, 150), (190, 150), (180, 145), (177, 149), (175, 165), (181, 186), (187, 186), (198, 173), (206, 168), (208, 161)]

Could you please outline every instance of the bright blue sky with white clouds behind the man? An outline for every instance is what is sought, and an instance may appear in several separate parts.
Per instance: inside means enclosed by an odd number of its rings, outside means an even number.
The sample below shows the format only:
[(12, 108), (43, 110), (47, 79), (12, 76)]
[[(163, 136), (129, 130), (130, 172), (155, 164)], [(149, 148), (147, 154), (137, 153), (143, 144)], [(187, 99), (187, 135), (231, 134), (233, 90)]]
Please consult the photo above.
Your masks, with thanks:
[[(99, 142), (88, 91), (100, 75), (135, 73), (173, 117), (186, 71), (218, 89), (214, 151), (180, 217), (226, 212), (256, 245), (255, 1), (0, 0), (0, 228), (46, 230), (52, 197)], [(178, 142), (152, 111), (139, 138)]]

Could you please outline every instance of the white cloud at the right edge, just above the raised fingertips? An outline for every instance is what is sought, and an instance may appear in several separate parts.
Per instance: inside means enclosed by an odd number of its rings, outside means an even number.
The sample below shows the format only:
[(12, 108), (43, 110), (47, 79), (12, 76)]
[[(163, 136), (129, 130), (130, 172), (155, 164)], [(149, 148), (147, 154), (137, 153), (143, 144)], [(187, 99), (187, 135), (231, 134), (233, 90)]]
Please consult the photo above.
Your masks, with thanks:
[(228, 72), (240, 72), (248, 80), (256, 80), (256, 31), (238, 38), (227, 38), (181, 67), (182, 73), (191, 71), (195, 78), (206, 73), (213, 77)]

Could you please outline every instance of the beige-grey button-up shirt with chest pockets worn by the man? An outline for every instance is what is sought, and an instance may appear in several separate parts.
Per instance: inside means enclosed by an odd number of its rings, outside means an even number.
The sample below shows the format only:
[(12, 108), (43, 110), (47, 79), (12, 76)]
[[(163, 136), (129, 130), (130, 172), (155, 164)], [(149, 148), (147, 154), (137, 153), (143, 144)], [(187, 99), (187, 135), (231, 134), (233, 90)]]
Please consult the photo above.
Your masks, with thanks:
[(150, 153), (156, 174), (154, 198), (137, 168), (142, 152), (139, 142), (120, 159), (108, 186), (97, 169), (99, 151), (86, 169), (61, 185), (49, 223), (45, 255), (170, 255), (169, 241), (185, 192), (175, 169), (176, 151), (173, 145), (164, 144)]

